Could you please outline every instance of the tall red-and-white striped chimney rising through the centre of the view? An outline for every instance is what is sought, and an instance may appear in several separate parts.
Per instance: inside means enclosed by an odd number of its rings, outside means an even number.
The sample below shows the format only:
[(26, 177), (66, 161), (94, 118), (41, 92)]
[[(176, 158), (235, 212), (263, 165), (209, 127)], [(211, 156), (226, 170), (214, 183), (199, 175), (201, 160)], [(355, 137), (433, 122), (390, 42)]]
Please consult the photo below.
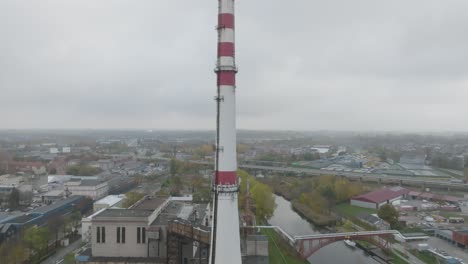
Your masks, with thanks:
[(218, 0), (216, 158), (210, 264), (241, 264), (236, 175), (234, 0)]

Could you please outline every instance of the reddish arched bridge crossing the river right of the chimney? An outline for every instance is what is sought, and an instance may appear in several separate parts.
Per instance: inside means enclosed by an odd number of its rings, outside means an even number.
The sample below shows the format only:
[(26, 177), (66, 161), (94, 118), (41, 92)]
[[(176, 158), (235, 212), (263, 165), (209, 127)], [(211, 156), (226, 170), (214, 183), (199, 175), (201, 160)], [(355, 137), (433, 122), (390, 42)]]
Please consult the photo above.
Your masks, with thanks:
[(389, 239), (394, 234), (400, 232), (396, 230), (380, 230), (380, 231), (361, 231), (361, 232), (346, 232), (346, 233), (328, 233), (306, 236), (291, 236), (279, 226), (252, 226), (251, 228), (269, 228), (275, 229), (278, 234), (297, 250), (304, 258), (308, 259), (312, 254), (319, 249), (340, 240), (364, 240), (372, 243), (382, 249), (389, 249)]

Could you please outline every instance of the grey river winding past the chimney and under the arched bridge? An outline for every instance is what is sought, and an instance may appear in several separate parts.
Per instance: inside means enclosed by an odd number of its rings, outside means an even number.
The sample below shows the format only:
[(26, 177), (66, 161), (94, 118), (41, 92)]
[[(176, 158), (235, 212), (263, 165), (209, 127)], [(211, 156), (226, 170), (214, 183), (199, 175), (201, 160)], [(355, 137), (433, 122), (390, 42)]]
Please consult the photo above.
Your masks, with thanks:
[[(302, 218), (291, 208), (291, 203), (281, 196), (275, 195), (277, 207), (269, 223), (280, 226), (292, 236), (317, 234), (315, 227)], [(366, 256), (360, 249), (351, 249), (342, 241), (335, 242), (319, 249), (309, 259), (312, 264), (346, 263), (346, 264), (378, 264), (373, 258)]]

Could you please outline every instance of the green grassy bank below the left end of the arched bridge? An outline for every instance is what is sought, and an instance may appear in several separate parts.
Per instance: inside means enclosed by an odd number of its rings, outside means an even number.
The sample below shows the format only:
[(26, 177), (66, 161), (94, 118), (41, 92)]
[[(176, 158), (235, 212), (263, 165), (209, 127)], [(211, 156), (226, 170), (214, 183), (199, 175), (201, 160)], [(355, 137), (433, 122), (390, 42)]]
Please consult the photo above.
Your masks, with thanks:
[(270, 264), (308, 264), (309, 262), (297, 256), (295, 250), (278, 236), (273, 229), (263, 229), (268, 237), (268, 252)]

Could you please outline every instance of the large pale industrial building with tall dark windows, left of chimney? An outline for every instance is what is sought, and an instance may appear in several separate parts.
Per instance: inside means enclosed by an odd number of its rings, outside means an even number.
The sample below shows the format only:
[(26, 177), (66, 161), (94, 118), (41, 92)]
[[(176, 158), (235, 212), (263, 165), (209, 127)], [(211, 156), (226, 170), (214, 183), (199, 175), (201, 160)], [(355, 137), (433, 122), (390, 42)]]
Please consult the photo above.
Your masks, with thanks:
[[(79, 263), (207, 263), (211, 210), (185, 197), (145, 197), (83, 219), (91, 248)], [(86, 230), (85, 230), (86, 229)]]

